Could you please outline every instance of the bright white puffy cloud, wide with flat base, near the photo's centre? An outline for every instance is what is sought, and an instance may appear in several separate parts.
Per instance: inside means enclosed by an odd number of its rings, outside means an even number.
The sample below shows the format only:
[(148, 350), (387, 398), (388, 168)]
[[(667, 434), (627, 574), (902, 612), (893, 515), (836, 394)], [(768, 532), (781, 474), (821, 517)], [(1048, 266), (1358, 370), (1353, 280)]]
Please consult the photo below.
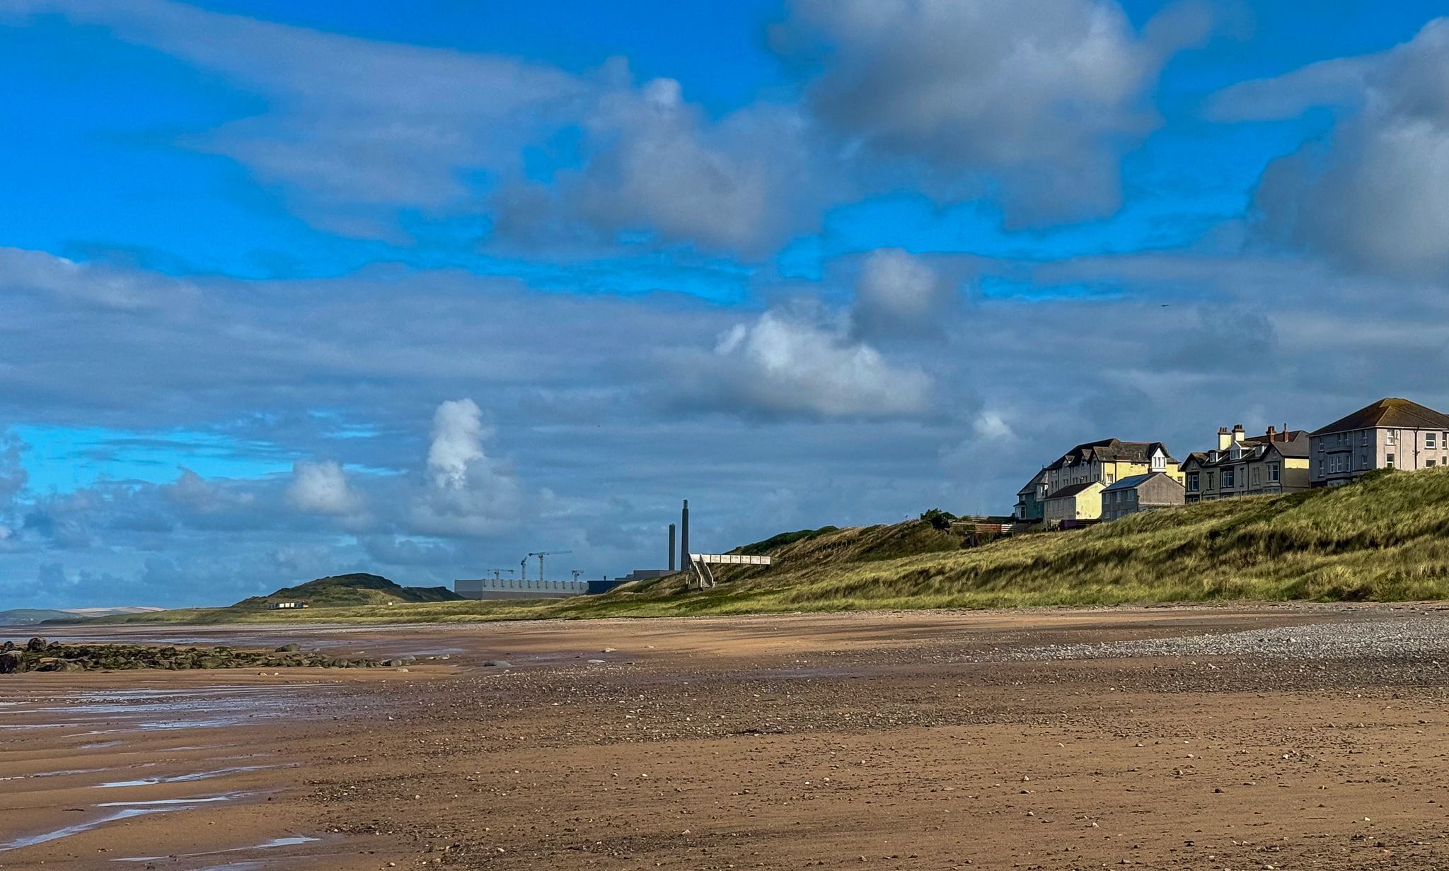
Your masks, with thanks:
[(893, 366), (839, 323), (767, 311), (720, 336), (709, 383), (740, 411), (898, 417), (927, 407), (930, 378)]

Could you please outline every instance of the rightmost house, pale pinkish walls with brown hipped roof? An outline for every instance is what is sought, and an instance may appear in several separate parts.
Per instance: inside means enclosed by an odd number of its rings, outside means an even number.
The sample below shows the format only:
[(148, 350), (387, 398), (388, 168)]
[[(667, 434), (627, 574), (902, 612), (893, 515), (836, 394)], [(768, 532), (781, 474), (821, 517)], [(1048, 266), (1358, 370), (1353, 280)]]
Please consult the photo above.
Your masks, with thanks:
[(1308, 479), (1337, 486), (1375, 469), (1449, 464), (1449, 415), (1408, 399), (1379, 399), (1308, 434)]

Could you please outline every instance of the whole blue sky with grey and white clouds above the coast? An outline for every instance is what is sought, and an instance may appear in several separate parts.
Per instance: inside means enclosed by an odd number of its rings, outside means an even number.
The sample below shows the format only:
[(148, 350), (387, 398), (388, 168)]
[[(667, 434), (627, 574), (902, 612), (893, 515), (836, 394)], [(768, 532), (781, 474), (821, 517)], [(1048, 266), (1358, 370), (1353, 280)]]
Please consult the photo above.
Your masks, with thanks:
[[(1006, 512), (1449, 407), (1449, 19), (0, 0), (0, 608)], [(530, 566), (530, 572), (532, 572)]]

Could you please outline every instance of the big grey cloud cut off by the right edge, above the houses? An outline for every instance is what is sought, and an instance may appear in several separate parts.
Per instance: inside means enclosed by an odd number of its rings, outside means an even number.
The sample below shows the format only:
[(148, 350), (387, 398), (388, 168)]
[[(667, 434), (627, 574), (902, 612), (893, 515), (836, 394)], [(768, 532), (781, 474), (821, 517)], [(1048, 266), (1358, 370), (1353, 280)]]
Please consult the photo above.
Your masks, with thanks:
[[(1300, 90), (1304, 78), (1329, 82)], [(1271, 163), (1258, 229), (1339, 265), (1408, 279), (1449, 279), (1449, 19), (1369, 58), (1239, 85), (1219, 113), (1271, 117), (1306, 98), (1343, 107), (1324, 139)]]

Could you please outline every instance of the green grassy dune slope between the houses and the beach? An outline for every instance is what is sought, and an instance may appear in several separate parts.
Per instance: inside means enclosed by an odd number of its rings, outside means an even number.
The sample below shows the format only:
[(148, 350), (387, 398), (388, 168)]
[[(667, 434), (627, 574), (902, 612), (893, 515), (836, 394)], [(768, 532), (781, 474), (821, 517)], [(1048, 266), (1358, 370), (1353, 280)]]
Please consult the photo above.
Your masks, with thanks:
[(1001, 608), (1129, 602), (1416, 600), (1449, 598), (1449, 469), (1374, 475), (1288, 496), (1133, 515), (1074, 532), (964, 550), (924, 522), (856, 527), (772, 548), (769, 569), (680, 576), (607, 596), (312, 608), (301, 613), (171, 611), (106, 622), (448, 622), (867, 608)]

